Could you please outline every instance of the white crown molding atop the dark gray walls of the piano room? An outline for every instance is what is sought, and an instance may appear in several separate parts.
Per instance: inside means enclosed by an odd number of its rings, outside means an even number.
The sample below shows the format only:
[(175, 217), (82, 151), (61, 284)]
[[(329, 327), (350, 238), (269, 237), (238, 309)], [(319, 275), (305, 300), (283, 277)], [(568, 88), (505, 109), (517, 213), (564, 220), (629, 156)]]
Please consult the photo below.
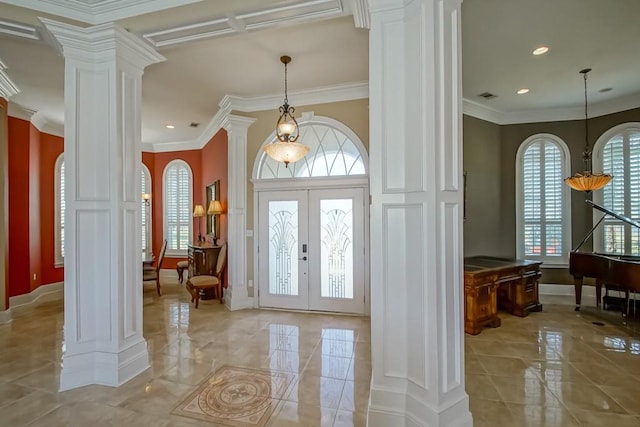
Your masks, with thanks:
[[(583, 120), (584, 108), (545, 108), (524, 111), (499, 111), (477, 102), (463, 99), (462, 112), (497, 125), (514, 125), (522, 123), (562, 122), (566, 120)], [(589, 105), (589, 119), (619, 113), (620, 111), (640, 108), (640, 93), (622, 96), (609, 101)]]

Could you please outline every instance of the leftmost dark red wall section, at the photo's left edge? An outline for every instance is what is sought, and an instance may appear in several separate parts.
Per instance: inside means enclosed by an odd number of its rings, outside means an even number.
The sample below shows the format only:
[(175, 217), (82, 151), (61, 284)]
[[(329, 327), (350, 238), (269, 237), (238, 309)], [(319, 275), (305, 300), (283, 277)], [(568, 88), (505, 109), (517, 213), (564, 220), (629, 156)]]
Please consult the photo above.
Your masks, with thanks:
[(9, 117), (9, 297), (31, 292), (29, 240), (29, 148), (31, 123)]

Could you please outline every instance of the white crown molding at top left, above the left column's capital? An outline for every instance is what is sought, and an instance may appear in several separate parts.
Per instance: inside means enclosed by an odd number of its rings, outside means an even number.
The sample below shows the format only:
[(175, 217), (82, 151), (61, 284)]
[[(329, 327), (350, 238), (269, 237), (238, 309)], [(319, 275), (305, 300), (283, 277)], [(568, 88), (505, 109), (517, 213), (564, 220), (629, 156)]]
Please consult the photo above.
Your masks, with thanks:
[(88, 24), (104, 24), (202, 0), (2, 0)]

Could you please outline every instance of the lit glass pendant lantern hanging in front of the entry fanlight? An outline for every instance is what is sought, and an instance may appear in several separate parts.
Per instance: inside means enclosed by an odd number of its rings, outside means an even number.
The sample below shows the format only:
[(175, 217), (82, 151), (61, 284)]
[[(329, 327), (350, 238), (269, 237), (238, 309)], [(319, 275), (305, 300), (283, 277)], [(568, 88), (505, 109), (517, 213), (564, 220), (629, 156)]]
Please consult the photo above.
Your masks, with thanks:
[(298, 141), (300, 129), (298, 122), (293, 117), (295, 108), (289, 105), (287, 98), (287, 64), (291, 62), (290, 56), (281, 56), (280, 62), (284, 64), (284, 104), (280, 107), (280, 117), (276, 124), (277, 141), (267, 144), (264, 151), (272, 159), (283, 162), (285, 167), (289, 167), (289, 163), (297, 162), (307, 155), (309, 147)]

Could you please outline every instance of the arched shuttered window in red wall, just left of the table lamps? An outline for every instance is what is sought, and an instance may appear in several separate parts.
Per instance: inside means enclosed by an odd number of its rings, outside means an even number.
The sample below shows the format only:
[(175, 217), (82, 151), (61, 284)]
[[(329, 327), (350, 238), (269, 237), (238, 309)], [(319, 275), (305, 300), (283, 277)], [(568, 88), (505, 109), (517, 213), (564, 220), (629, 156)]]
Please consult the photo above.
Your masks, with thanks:
[(167, 255), (186, 255), (191, 240), (191, 168), (184, 160), (174, 160), (164, 169), (164, 236)]

